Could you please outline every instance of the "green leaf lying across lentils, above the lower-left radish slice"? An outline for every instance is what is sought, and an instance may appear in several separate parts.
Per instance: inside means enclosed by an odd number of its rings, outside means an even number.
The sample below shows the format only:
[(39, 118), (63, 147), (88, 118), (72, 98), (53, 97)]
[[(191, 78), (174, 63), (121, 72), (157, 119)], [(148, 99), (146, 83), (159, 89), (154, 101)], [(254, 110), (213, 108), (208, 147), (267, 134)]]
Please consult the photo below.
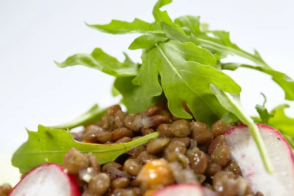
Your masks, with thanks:
[(28, 172), (43, 163), (63, 165), (64, 154), (72, 147), (83, 153), (92, 152), (99, 164), (103, 164), (114, 161), (128, 150), (159, 136), (159, 133), (155, 132), (128, 143), (100, 145), (77, 142), (73, 140), (69, 131), (50, 129), (42, 125), (38, 126), (37, 132), (27, 130), (27, 133), (27, 142), (17, 149), (11, 160), (12, 165), (19, 168), (21, 173)]

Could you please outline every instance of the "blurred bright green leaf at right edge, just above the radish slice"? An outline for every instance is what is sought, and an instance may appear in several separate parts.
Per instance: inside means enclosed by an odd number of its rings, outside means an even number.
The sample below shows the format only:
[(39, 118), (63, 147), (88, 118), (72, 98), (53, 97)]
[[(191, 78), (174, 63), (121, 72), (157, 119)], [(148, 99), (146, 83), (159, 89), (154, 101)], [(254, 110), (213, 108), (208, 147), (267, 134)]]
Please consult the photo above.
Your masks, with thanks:
[(282, 104), (275, 107), (270, 114), (269, 125), (278, 129), (282, 134), (294, 137), (294, 118), (289, 118), (285, 114), (285, 109), (289, 108), (288, 104)]

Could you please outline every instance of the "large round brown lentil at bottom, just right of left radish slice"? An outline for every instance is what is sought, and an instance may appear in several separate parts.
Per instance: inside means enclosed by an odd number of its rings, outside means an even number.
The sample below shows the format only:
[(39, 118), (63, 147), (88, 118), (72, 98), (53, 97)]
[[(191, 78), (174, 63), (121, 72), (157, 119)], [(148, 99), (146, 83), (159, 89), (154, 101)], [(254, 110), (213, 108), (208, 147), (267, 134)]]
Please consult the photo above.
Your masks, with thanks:
[(104, 194), (110, 187), (110, 177), (106, 173), (98, 173), (89, 182), (89, 192)]

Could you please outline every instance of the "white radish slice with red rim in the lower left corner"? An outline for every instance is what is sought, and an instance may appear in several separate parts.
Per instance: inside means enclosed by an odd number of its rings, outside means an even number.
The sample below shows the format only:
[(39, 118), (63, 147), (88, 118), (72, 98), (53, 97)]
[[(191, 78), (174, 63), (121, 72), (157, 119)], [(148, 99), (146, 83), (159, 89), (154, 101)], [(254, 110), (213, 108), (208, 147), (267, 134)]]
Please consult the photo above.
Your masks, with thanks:
[(80, 196), (74, 175), (61, 165), (45, 163), (35, 167), (12, 189), (9, 196)]

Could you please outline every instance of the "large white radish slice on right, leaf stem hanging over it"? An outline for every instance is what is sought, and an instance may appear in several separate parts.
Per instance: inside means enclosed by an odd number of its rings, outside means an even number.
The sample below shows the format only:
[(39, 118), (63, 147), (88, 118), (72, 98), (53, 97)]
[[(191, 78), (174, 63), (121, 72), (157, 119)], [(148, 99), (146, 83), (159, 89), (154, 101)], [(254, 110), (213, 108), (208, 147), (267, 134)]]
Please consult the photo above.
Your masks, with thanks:
[(294, 193), (294, 154), (282, 134), (264, 124), (257, 124), (266, 144), (274, 173), (266, 172), (257, 146), (246, 125), (236, 126), (224, 135), (230, 156), (240, 166), (254, 192), (265, 196), (291, 196)]

